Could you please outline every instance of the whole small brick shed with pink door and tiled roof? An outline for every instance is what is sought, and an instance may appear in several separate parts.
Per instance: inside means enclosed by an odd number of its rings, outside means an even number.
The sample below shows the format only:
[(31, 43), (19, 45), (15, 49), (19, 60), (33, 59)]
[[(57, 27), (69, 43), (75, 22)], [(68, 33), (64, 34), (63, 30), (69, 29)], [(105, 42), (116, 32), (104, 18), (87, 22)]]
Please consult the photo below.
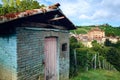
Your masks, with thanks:
[(69, 79), (69, 30), (76, 27), (59, 6), (0, 16), (0, 80)]

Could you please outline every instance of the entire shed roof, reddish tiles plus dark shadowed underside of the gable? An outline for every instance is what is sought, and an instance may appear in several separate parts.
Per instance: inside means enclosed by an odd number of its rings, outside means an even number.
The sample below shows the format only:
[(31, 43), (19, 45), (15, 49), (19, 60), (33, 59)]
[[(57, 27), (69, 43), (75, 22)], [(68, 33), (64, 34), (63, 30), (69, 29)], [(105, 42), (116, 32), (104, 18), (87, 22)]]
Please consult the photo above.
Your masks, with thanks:
[(0, 16), (0, 27), (16, 26), (25, 22), (35, 22), (64, 26), (67, 30), (76, 29), (73, 23), (62, 13), (59, 6), (60, 4), (57, 3), (45, 8)]

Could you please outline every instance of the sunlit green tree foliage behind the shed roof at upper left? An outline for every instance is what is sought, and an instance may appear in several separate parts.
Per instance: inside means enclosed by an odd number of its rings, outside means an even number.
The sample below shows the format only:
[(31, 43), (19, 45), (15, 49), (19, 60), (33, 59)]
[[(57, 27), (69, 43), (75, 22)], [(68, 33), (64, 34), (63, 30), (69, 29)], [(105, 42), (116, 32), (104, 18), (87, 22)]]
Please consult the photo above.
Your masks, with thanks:
[(0, 15), (44, 7), (35, 0), (2, 0)]

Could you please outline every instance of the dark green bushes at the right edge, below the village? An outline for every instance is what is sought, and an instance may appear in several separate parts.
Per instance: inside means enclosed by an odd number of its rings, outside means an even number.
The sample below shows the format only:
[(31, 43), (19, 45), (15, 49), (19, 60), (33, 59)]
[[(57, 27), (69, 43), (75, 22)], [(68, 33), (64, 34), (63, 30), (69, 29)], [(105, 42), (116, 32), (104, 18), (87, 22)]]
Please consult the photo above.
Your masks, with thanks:
[(120, 71), (120, 41), (111, 43), (109, 40), (106, 40), (104, 45), (110, 48), (106, 53), (107, 61)]

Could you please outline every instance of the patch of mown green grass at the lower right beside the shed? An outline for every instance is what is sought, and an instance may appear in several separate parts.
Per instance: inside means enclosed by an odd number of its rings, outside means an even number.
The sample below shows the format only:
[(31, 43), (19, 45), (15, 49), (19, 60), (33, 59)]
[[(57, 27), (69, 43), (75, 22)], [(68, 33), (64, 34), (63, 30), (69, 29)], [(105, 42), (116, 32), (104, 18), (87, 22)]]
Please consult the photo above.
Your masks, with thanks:
[(80, 72), (70, 80), (120, 80), (120, 72), (108, 70), (90, 70)]

